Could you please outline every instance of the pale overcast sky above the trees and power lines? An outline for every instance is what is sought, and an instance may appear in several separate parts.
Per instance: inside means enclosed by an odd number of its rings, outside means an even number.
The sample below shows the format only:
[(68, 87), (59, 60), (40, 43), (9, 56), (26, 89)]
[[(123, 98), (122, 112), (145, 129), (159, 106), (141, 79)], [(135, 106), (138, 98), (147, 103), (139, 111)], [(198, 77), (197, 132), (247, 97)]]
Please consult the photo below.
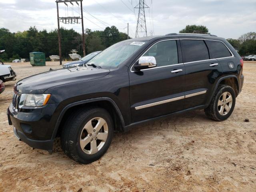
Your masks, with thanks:
[[(132, 12), (139, 0), (84, 0), (84, 28), (102, 30), (115, 25), (121, 32), (135, 36), (138, 10)], [(145, 0), (150, 9), (145, 9), (148, 35), (179, 32), (188, 24), (205, 25), (211, 34), (224, 38), (238, 38), (246, 32), (256, 32), (256, 0)], [(151, 3), (152, 2), (152, 3)], [(66, 11), (65, 11), (66, 10)], [(74, 4), (74, 16), (79, 16)], [(150, 10), (150, 12), (149, 12)], [(89, 14), (87, 12), (89, 12)], [(60, 4), (60, 16), (71, 16)], [(96, 20), (96, 18), (101, 20)], [(151, 15), (151, 16), (150, 16)], [(39, 30), (57, 28), (55, 0), (0, 0), (0, 28), (11, 32), (24, 31), (30, 26)], [(151, 22), (150, 22), (151, 21)], [(63, 24), (81, 32), (79, 24)]]

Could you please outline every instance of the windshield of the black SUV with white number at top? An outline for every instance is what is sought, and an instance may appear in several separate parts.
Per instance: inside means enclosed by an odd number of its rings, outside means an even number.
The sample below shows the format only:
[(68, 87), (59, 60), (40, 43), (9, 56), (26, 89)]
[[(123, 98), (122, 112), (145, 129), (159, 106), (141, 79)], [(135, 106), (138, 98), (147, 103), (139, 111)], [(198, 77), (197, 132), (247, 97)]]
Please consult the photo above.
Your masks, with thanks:
[(87, 64), (94, 64), (104, 69), (117, 68), (144, 44), (145, 42), (116, 43), (92, 58)]

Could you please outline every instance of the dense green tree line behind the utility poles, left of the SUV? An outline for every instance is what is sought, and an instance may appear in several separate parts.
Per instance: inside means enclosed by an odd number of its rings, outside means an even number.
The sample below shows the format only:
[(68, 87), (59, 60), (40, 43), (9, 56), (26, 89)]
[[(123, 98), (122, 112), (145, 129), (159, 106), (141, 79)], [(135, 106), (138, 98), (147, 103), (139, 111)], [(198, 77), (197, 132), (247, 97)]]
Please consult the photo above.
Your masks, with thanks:
[[(69, 59), (68, 54), (72, 49), (76, 49), (78, 54), (83, 55), (82, 34), (74, 29), (66, 28), (60, 28), (60, 34), (62, 57)], [(119, 32), (116, 26), (106, 27), (102, 31), (86, 29), (86, 54), (104, 50), (112, 44), (126, 39), (127, 34)], [(58, 30), (39, 31), (35, 26), (31, 26), (26, 31), (12, 33), (6, 28), (0, 28), (0, 50), (5, 50), (0, 55), (4, 62), (20, 58), (28, 59), (30, 52), (44, 52), (46, 60), (50, 60), (50, 55), (59, 55)]]

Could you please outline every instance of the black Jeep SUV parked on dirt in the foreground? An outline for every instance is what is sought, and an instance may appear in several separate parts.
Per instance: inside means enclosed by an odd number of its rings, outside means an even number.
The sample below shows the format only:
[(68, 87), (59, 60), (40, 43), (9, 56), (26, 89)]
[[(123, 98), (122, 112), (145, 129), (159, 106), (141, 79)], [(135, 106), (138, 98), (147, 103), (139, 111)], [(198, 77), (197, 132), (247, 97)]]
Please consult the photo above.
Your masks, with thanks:
[(114, 131), (195, 109), (213, 120), (234, 110), (243, 60), (214, 35), (168, 34), (129, 39), (102, 51), (85, 67), (30, 76), (14, 86), (8, 108), (16, 137), (90, 163), (110, 146)]

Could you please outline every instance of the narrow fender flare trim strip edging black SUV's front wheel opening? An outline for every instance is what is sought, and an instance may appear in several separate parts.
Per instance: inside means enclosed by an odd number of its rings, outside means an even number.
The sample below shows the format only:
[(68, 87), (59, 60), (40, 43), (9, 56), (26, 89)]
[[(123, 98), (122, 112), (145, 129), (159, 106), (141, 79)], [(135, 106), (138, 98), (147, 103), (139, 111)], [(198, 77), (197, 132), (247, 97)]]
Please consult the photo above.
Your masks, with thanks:
[(55, 139), (56, 134), (58, 132), (58, 128), (60, 126), (60, 122), (62, 121), (62, 118), (63, 118), (64, 114), (66, 113), (66, 111), (69, 108), (74, 107), (74, 106), (78, 106), (78, 105), (81, 105), (81, 104), (96, 102), (96, 101), (109, 101), (112, 104), (112, 106), (114, 107), (114, 110), (116, 111), (116, 113), (118, 114), (118, 117), (121, 120), (122, 127), (125, 126), (124, 118), (122, 116), (122, 113), (121, 113), (120, 109), (118, 108), (117, 104), (111, 98), (109, 98), (109, 97), (100, 97), (100, 98), (93, 98), (93, 99), (88, 99), (88, 100), (82, 100), (82, 101), (70, 103), (70, 104), (68, 104), (67, 106), (65, 106), (62, 109), (62, 111), (60, 112), (60, 115), (58, 116), (58, 120), (57, 120), (57, 122), (56, 122), (56, 124), (54, 126), (54, 130), (52, 132), (52, 140)]

